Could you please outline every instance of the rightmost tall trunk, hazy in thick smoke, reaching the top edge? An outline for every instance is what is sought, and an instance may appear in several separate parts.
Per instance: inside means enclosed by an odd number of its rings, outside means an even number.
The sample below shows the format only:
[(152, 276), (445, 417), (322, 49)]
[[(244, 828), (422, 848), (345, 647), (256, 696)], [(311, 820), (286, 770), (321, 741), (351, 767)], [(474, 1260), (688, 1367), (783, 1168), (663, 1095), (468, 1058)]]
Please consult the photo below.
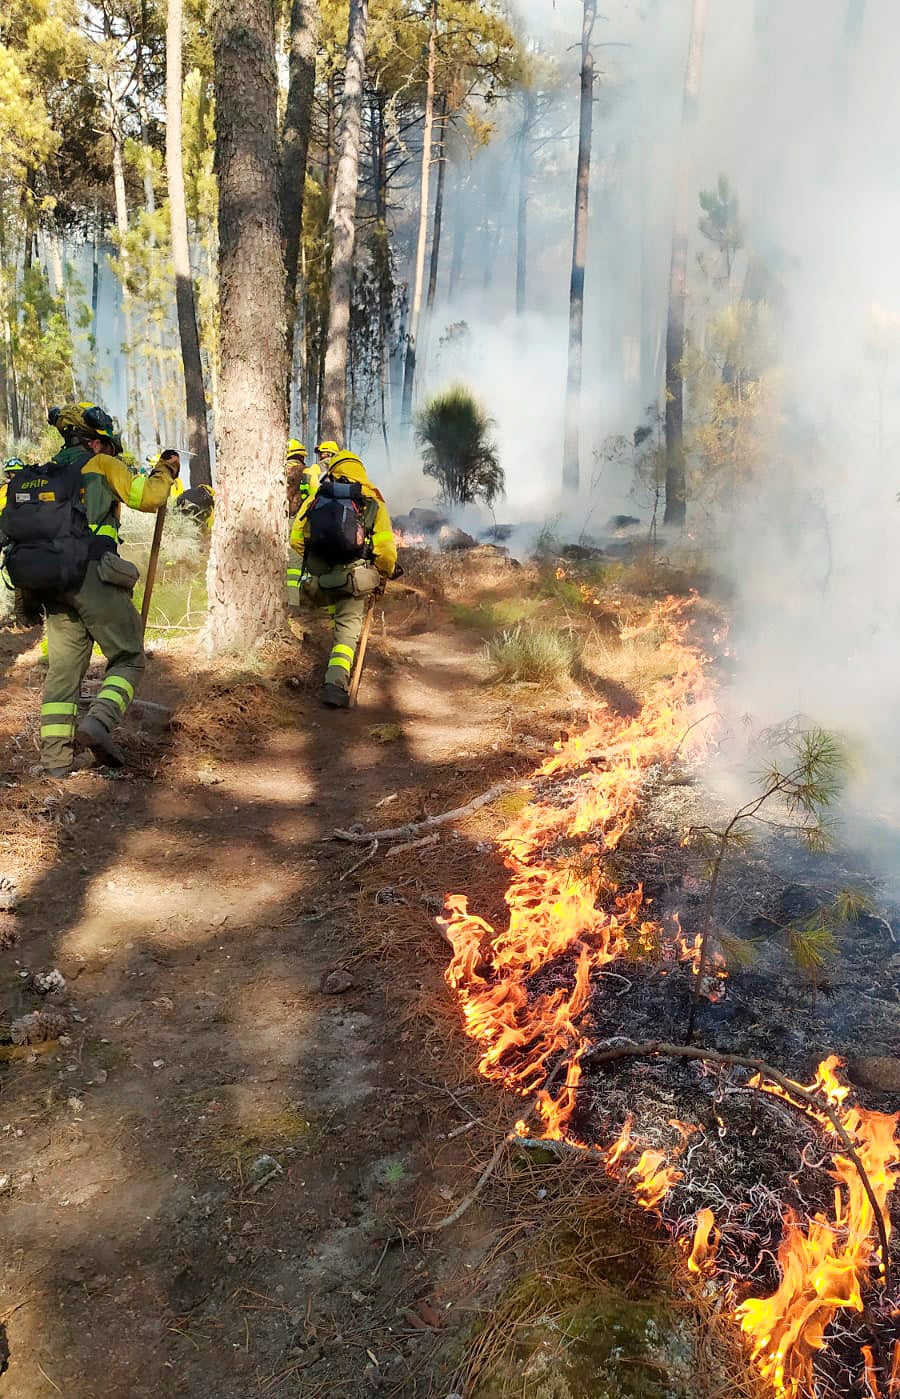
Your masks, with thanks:
[(683, 525), (687, 513), (684, 470), (684, 313), (687, 305), (687, 239), (690, 228), (691, 136), (703, 73), (708, 0), (693, 0), (690, 42), (684, 69), (682, 150), (679, 154), (669, 270), (669, 320), (666, 327), (666, 505), (663, 525)]

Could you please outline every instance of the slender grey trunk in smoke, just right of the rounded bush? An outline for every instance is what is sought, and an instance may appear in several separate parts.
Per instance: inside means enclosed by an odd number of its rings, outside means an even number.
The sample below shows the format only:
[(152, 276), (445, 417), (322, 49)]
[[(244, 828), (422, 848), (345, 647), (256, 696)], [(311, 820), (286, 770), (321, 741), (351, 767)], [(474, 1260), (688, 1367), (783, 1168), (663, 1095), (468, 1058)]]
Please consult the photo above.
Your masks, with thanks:
[(584, 287), (588, 255), (588, 201), (591, 194), (591, 136), (593, 130), (593, 25), (596, 0), (584, 0), (581, 24), (581, 108), (578, 165), (575, 171), (575, 228), (572, 276), (568, 288), (568, 376), (565, 382), (565, 431), (563, 435), (563, 488), (577, 491), (581, 476), (581, 369), (584, 355)]

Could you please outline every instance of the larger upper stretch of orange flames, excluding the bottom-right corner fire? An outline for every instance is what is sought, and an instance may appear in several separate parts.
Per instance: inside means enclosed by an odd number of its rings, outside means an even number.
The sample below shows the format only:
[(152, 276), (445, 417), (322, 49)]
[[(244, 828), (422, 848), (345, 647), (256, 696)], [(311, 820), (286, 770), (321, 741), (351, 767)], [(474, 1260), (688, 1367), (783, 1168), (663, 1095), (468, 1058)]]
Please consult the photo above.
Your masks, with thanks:
[[(483, 1046), (480, 1070), (515, 1093), (543, 1087), (547, 1066), (568, 1060), (565, 1090), (551, 1108), (542, 1100), (544, 1122), (563, 1133), (575, 1109), (571, 1073), (588, 1046), (579, 1018), (591, 1000), (591, 975), (626, 950), (626, 935), (649, 937), (659, 925), (645, 918), (644, 893), (619, 887), (591, 860), (584, 873), (571, 860), (543, 853), (549, 846), (591, 837), (591, 851), (609, 853), (628, 830), (647, 769), (682, 747), (701, 746), (690, 727), (696, 706), (708, 695), (703, 658), (686, 641), (684, 606), (656, 604), (652, 625), (679, 648), (675, 677), (627, 722), (600, 708), (582, 733), (556, 746), (536, 781), (563, 778), (554, 800), (532, 802), (498, 837), (511, 873), (505, 893), (505, 932), (469, 912), (465, 895), (447, 900), (444, 929), (452, 947), (447, 981), (456, 992), (466, 1034)], [(529, 981), (556, 958), (575, 953), (571, 988), (543, 995)]]

